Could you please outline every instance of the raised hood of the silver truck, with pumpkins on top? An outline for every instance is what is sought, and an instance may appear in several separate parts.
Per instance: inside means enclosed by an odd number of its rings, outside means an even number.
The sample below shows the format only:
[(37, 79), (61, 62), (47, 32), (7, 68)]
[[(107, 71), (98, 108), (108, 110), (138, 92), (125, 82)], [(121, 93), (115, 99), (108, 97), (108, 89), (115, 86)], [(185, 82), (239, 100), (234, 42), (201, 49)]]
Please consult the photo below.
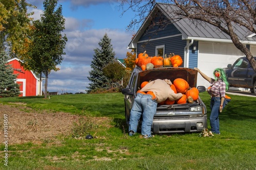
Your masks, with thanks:
[[(189, 87), (197, 87), (197, 70), (184, 67), (159, 67), (139, 72), (138, 82), (169, 79), (173, 82), (177, 78), (186, 80)], [(139, 85), (139, 84), (138, 84)]]

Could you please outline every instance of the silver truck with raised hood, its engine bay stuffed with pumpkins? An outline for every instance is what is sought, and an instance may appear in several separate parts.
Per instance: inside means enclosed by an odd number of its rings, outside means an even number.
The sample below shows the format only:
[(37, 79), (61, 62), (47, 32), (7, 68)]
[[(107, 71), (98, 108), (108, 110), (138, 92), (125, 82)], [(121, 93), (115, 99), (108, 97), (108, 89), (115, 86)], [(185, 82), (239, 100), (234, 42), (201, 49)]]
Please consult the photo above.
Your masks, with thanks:
[[(130, 112), (136, 92), (144, 81), (156, 79), (169, 79), (173, 82), (176, 78), (186, 80), (189, 87), (196, 87), (198, 71), (182, 67), (159, 67), (142, 71), (136, 67), (131, 75), (129, 84), (122, 89), (124, 94), (125, 118), (129, 126)], [(204, 86), (198, 87), (199, 92), (205, 91)], [(153, 133), (181, 133), (201, 132), (207, 128), (207, 110), (203, 101), (199, 99), (191, 104), (158, 105), (153, 119)], [(142, 113), (143, 114), (143, 113)], [(140, 120), (138, 131), (141, 128)]]

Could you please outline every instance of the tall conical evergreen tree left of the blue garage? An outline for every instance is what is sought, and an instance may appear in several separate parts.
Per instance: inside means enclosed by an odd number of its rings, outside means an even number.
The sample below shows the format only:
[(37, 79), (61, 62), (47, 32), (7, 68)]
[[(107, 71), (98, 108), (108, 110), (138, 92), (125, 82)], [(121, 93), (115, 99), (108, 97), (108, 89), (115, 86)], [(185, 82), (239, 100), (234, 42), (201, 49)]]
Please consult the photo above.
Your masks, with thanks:
[(92, 70), (89, 72), (90, 77), (88, 77), (92, 83), (89, 83), (88, 93), (98, 88), (108, 89), (111, 87), (111, 80), (103, 74), (103, 68), (115, 59), (115, 52), (113, 52), (111, 39), (107, 34), (103, 36), (99, 42), (99, 46), (101, 49), (94, 49), (95, 55), (93, 55), (91, 64)]

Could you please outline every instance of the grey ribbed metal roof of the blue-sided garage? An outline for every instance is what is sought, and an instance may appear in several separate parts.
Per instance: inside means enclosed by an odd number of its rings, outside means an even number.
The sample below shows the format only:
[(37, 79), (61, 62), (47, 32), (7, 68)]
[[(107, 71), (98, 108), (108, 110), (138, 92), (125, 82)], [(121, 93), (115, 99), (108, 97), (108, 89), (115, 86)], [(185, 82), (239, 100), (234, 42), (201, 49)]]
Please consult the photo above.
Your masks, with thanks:
[[(216, 41), (216, 42), (232, 42), (229, 35), (222, 32), (219, 28), (210, 25), (204, 21), (198, 21), (195, 19), (182, 18), (174, 16), (174, 14), (170, 11), (174, 11), (177, 8), (175, 5), (170, 4), (156, 4), (154, 9), (151, 11), (149, 15), (156, 12), (158, 9), (173, 22), (175, 27), (182, 33), (183, 39), (194, 39), (194, 40), (205, 40), (205, 41)], [(132, 48), (136, 46), (139, 37), (143, 34), (144, 30), (147, 28), (147, 25), (150, 22), (146, 19), (143, 25), (138, 30), (134, 39), (129, 44), (129, 47)], [(251, 36), (254, 35), (252, 32), (247, 30), (243, 26), (234, 25), (234, 32), (238, 35), (239, 40), (244, 41), (244, 43), (253, 43), (256, 44), (256, 37)]]

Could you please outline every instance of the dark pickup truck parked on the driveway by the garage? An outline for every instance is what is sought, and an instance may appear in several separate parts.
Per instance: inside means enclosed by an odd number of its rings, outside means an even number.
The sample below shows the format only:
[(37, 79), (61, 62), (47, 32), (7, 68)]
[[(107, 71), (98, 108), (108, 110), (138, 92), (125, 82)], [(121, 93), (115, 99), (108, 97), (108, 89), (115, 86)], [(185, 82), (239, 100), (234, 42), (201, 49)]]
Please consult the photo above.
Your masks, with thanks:
[[(254, 57), (256, 60), (256, 57)], [(249, 88), (256, 94), (256, 73), (252, 69), (246, 57), (237, 59), (233, 64), (223, 68), (227, 74), (227, 81), (230, 87)]]

